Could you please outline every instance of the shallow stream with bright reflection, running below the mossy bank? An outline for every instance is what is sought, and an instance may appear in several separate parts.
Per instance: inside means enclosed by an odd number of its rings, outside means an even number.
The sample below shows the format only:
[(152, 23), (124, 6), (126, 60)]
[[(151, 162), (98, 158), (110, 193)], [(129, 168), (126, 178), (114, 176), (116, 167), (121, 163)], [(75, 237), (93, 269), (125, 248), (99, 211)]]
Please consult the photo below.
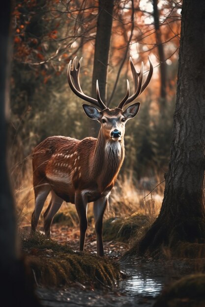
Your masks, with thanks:
[(121, 262), (120, 267), (128, 277), (115, 288), (87, 290), (79, 284), (63, 290), (38, 288), (37, 295), (46, 307), (152, 307), (164, 286), (183, 275), (178, 267), (173, 267), (173, 262), (133, 259)]

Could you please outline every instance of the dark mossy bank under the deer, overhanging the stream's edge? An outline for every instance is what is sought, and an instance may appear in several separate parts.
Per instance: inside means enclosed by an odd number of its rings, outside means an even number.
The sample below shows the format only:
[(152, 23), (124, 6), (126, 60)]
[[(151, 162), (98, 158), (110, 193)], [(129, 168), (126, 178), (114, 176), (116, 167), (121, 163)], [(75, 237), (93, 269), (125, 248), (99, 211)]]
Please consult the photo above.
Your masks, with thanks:
[(78, 281), (112, 286), (120, 279), (118, 267), (106, 258), (79, 253), (60, 253), (55, 258), (28, 256), (27, 261), (35, 273), (38, 283), (47, 286), (60, 286)]

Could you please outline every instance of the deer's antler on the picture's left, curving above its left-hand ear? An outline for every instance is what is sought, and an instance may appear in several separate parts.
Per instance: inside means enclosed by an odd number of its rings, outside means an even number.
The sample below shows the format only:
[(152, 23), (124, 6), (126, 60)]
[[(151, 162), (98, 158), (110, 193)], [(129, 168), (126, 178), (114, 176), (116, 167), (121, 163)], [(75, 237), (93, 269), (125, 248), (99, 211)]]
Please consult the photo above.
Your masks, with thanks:
[[(82, 98), (83, 100), (86, 100), (87, 102), (90, 102), (97, 107), (100, 107), (101, 110), (104, 110), (107, 108), (107, 106), (103, 103), (103, 101), (100, 98), (100, 92), (99, 92), (99, 87), (98, 87), (98, 80), (96, 81), (96, 93), (97, 93), (97, 100), (87, 96), (84, 94), (84, 92), (81, 89), (80, 86), (80, 81), (79, 81), (79, 73), (81, 69), (81, 62), (82, 62), (83, 57), (80, 59), (78, 62), (78, 65), (76, 67), (76, 57), (73, 60), (73, 68), (71, 69), (71, 64), (72, 60), (70, 60), (68, 64), (68, 69), (67, 69), (67, 79), (68, 83), (70, 85), (71, 90), (73, 91), (74, 94), (76, 94), (78, 97)], [(72, 76), (72, 78), (71, 78)], [(73, 81), (72, 81), (73, 79)], [(73, 84), (74, 83), (74, 84)]]

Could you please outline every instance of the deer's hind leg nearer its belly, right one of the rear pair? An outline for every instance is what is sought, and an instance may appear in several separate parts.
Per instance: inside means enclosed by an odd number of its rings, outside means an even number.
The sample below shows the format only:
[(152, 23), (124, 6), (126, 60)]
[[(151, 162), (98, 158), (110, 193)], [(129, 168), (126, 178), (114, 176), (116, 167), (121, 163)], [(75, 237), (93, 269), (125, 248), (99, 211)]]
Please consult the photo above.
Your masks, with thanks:
[(56, 193), (51, 191), (51, 201), (46, 209), (44, 217), (44, 231), (47, 237), (50, 237), (50, 228), (53, 221), (54, 215), (58, 212), (60, 206), (62, 205), (63, 200), (56, 195)]

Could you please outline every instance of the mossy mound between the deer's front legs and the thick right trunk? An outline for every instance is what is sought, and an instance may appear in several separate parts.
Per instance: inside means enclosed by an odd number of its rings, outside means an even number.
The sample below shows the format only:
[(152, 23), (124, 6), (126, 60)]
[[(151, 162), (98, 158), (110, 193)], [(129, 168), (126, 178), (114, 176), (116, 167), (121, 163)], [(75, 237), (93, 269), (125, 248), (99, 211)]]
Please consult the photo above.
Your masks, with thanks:
[(125, 218), (111, 218), (103, 224), (103, 238), (107, 241), (127, 242), (132, 237), (138, 236), (138, 231), (147, 224), (149, 224), (147, 216), (141, 213)]

